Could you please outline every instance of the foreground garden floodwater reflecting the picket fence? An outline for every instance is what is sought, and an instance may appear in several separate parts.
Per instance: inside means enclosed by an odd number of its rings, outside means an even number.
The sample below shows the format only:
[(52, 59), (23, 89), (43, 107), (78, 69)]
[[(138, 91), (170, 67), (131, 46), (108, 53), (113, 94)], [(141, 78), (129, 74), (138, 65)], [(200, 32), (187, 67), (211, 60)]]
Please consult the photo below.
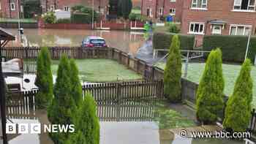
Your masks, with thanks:
[[(168, 129), (159, 129), (154, 121), (155, 102), (98, 103), (101, 144), (238, 144), (230, 140), (192, 140), (178, 137)], [(44, 110), (25, 107), (7, 107), (7, 119), (16, 124), (49, 124)], [(10, 135), (9, 135), (10, 137)], [(53, 144), (48, 134), (20, 134), (12, 136), (10, 144)]]

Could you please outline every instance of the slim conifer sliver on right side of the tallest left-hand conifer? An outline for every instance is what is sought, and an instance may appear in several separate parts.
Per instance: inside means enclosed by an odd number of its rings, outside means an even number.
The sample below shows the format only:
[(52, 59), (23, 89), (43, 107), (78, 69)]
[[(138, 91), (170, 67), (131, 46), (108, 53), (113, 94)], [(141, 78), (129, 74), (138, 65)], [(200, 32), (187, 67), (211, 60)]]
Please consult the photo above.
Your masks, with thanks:
[(80, 107), (83, 101), (83, 90), (79, 79), (78, 67), (75, 64), (75, 60), (70, 60), (70, 83), (71, 83), (71, 93), (72, 98), (75, 101), (77, 107)]

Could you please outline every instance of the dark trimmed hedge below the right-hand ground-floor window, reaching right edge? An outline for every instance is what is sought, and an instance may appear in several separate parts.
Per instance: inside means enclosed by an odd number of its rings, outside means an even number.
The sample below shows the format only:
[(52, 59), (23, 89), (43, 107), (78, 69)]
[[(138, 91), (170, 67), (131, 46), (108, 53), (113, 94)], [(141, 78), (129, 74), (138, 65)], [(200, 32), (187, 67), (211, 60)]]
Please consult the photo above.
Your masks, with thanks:
[[(248, 37), (230, 35), (204, 36), (203, 50), (220, 48), (223, 61), (242, 62), (246, 53)], [(248, 58), (254, 61), (256, 55), (256, 37), (251, 37)]]

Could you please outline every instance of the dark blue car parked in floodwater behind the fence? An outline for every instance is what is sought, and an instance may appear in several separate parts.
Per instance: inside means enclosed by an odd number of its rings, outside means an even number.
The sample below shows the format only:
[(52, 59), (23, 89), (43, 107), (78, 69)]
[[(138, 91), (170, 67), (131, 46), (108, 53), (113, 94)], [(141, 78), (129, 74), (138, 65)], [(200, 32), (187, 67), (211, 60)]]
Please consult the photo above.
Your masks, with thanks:
[(108, 45), (106, 44), (105, 39), (103, 39), (102, 37), (86, 37), (85, 39), (83, 39), (82, 42), (82, 47), (86, 47), (86, 48), (106, 48), (108, 47)]

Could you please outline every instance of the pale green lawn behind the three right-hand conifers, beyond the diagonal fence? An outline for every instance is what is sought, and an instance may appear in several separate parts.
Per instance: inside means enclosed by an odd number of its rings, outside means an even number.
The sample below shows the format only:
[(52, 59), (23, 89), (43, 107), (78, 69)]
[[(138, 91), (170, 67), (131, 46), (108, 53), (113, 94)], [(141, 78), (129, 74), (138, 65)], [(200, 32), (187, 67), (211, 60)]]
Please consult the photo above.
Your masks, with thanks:
[[(187, 79), (191, 80), (195, 83), (200, 82), (200, 77), (203, 75), (203, 70), (205, 67), (205, 63), (189, 63)], [(158, 64), (157, 67), (164, 69), (165, 64)], [(184, 64), (182, 66), (182, 72), (184, 73)], [(233, 88), (236, 83), (236, 78), (239, 75), (241, 69), (241, 65), (233, 65), (233, 64), (222, 64), (222, 71), (225, 79), (225, 90), (224, 93), (227, 96), (230, 96), (233, 93)], [(256, 67), (252, 67), (252, 80), (253, 80), (253, 107), (256, 108)]]

